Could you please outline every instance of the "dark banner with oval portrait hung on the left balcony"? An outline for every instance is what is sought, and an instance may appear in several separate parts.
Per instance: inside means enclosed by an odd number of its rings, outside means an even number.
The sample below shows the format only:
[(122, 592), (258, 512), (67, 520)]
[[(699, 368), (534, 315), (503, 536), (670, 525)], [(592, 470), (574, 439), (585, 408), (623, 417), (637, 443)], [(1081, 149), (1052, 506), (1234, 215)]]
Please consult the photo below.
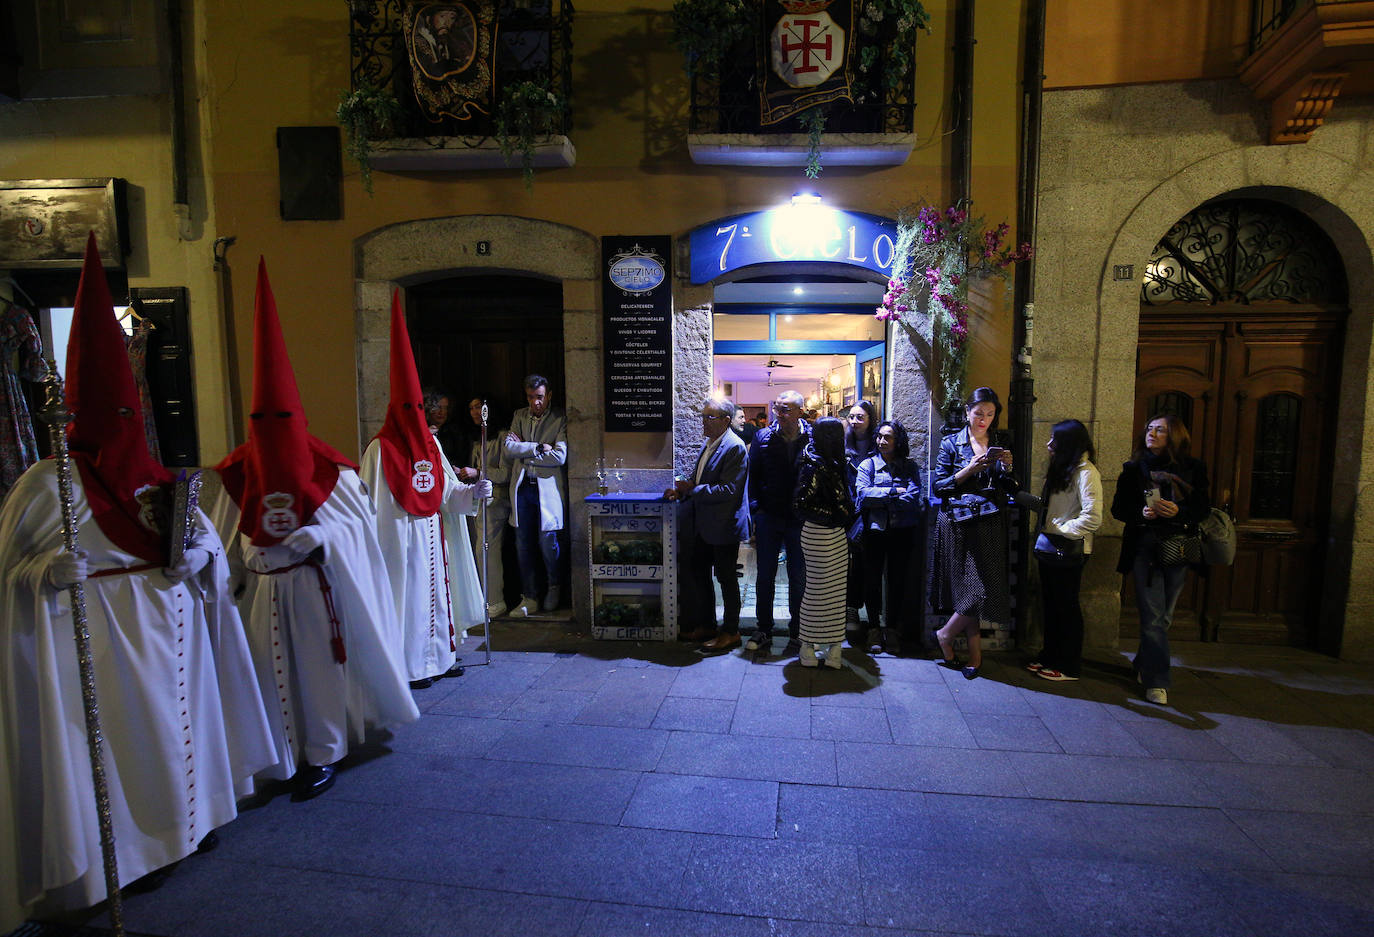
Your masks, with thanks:
[(466, 121), (495, 107), (492, 0), (405, 4), (411, 84), (426, 120)]

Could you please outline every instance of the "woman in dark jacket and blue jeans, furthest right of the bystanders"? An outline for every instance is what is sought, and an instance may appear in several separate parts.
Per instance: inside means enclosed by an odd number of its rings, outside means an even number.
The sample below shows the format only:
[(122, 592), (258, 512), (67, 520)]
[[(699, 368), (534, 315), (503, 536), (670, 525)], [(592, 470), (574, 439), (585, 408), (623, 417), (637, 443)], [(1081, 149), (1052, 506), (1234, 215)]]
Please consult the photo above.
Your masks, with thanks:
[(1169, 624), (1189, 566), (1201, 566), (1198, 522), (1212, 510), (1206, 466), (1189, 455), (1189, 427), (1153, 416), (1131, 462), (1121, 466), (1112, 517), (1125, 525), (1118, 573), (1131, 573), (1140, 613), (1135, 676), (1153, 703), (1169, 702)]

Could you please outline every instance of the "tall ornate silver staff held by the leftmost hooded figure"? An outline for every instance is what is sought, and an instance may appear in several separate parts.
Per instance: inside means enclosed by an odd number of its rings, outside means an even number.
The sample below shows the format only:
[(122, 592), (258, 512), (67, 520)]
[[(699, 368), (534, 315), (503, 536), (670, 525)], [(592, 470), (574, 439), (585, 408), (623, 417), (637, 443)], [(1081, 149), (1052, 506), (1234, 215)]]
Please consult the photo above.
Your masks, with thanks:
[[(58, 464), (58, 493), (62, 501), (62, 545), (67, 552), (81, 550), (77, 540), (76, 510), (71, 496), (71, 456), (67, 453), (67, 409), (58, 363), (48, 359), (48, 376), (43, 383), (43, 419), (52, 441), (52, 458)], [(91, 632), (85, 622), (85, 588), (73, 583), (71, 624), (77, 637), (77, 666), (81, 672), (81, 702), (87, 717), (87, 746), (91, 750), (91, 780), (95, 786), (95, 813), (100, 822), (100, 857), (104, 860), (104, 890), (110, 903), (110, 925), (115, 937), (124, 937), (124, 903), (120, 896), (120, 867), (114, 855), (114, 823), (110, 819), (110, 786), (104, 778), (104, 736), (100, 734), (100, 706), (95, 697), (95, 664), (91, 661)]]

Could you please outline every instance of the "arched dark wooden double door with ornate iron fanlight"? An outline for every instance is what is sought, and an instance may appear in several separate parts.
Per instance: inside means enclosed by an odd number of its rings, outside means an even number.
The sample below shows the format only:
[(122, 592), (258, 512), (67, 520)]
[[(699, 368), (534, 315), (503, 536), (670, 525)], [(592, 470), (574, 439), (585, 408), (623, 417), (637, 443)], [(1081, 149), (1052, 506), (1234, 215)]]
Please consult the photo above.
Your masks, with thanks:
[[(1134, 425), (1167, 414), (1190, 427), (1212, 501), (1239, 534), (1232, 566), (1190, 578), (1180, 636), (1318, 643), (1347, 312), (1334, 245), (1281, 202), (1215, 199), (1156, 245)], [(1134, 636), (1129, 581), (1124, 592), (1123, 635)]]

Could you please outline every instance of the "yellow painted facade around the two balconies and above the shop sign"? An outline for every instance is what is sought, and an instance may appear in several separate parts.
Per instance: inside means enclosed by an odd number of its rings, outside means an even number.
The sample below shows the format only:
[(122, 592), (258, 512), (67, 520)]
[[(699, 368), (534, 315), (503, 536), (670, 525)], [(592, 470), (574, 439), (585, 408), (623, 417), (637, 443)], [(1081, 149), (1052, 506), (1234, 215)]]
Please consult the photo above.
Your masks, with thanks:
[[(588, 231), (686, 235), (712, 218), (787, 201), (802, 187), (827, 203), (893, 214), (922, 198), (947, 202), (951, 188), (949, 106), (954, 0), (932, 0), (934, 32), (916, 45), (919, 143), (899, 168), (827, 168), (815, 183), (800, 169), (694, 165), (687, 154), (687, 81), (672, 47), (671, 0), (577, 4), (573, 135), (577, 165), (541, 170), (526, 190), (517, 170), (374, 173), (372, 196), (345, 162), (341, 221), (282, 221), (278, 126), (330, 125), (349, 87), (346, 4), (339, 0), (203, 0), (195, 4), (192, 78), (203, 122), (209, 205), (201, 236), (176, 239), (150, 209), (147, 269), (133, 284), (184, 283), (192, 290), (202, 455), (213, 462), (236, 442), (227, 415), (227, 357), (220, 338), (210, 242), (229, 249), (236, 390), (250, 398), (254, 269), (264, 256), (312, 429), (356, 452), (353, 245), (383, 225), (425, 217), (497, 213)], [(978, 4), (974, 199), (989, 220), (1014, 218), (1020, 107), (1021, 3)], [(12, 179), (125, 176), (150, 206), (170, 185), (162, 99), (113, 99), (0, 107), (0, 174)], [(98, 117), (92, 117), (98, 114)], [(15, 132), (18, 131), (18, 132)], [(973, 375), (1006, 387), (1010, 306), (980, 331)]]

